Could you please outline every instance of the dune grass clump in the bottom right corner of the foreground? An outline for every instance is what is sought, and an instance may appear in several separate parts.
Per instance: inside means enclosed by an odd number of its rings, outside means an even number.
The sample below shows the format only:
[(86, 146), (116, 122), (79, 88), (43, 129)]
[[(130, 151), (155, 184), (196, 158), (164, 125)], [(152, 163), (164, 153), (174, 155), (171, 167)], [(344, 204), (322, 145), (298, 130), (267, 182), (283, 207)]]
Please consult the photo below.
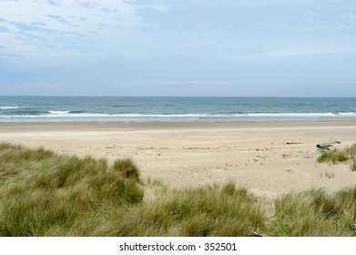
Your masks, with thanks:
[(275, 217), (264, 226), (270, 236), (355, 236), (356, 187), (327, 194), (323, 189), (289, 193), (275, 201)]

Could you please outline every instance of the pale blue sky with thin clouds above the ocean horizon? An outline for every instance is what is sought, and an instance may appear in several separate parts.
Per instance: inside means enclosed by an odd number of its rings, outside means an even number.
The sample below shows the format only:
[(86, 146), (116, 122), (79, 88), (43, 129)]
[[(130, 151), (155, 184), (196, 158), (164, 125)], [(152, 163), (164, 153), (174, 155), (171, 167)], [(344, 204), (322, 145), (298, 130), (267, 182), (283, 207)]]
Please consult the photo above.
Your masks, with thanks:
[(0, 0), (0, 96), (356, 97), (356, 1)]

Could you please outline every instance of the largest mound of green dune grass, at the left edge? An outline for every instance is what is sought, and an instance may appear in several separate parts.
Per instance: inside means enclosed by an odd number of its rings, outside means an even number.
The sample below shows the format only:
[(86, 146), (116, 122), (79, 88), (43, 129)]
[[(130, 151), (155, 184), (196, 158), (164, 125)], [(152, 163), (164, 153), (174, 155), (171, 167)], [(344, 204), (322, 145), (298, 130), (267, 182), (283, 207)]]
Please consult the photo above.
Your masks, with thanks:
[(137, 180), (103, 158), (59, 156), (10, 144), (0, 148), (1, 236), (46, 236), (53, 229), (63, 235), (83, 219), (143, 199)]

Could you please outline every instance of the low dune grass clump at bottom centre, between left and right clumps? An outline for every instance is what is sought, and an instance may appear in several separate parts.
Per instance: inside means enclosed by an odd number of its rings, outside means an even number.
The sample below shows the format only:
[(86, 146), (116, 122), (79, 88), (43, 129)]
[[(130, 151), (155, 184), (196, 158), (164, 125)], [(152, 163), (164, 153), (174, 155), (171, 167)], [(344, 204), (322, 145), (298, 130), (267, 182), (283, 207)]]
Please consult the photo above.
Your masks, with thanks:
[(103, 215), (96, 230), (87, 234), (248, 236), (261, 225), (264, 215), (259, 203), (251, 202), (245, 191), (232, 184), (167, 190), (155, 200)]

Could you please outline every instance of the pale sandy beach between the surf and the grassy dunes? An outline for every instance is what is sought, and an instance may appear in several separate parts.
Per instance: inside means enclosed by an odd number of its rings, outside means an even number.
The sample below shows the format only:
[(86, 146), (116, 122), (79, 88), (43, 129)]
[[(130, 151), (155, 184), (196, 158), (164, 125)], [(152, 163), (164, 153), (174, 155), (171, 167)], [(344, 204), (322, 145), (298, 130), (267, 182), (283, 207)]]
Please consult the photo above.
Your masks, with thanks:
[(270, 198), (355, 185), (348, 164), (317, 163), (316, 145), (332, 140), (341, 141), (335, 148), (356, 143), (355, 122), (0, 124), (0, 141), (109, 162), (132, 158), (144, 181), (178, 189), (233, 181)]

